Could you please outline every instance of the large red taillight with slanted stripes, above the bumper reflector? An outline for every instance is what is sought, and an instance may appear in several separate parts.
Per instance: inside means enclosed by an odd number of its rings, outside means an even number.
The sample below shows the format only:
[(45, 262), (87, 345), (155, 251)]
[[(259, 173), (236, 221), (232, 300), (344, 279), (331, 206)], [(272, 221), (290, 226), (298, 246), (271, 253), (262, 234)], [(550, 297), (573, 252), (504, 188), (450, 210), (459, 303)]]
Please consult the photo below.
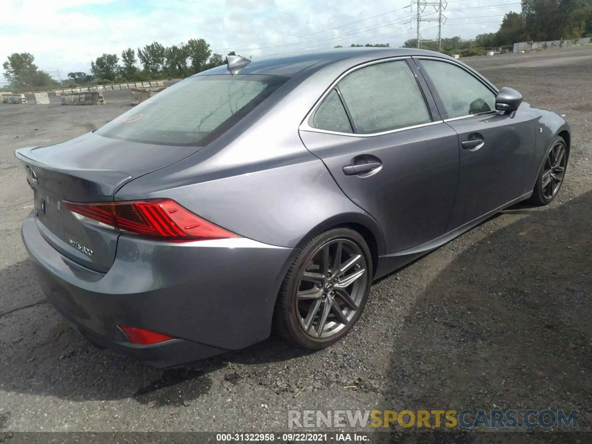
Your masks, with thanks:
[(78, 220), (96, 226), (164, 240), (207, 240), (240, 237), (170, 199), (64, 204)]

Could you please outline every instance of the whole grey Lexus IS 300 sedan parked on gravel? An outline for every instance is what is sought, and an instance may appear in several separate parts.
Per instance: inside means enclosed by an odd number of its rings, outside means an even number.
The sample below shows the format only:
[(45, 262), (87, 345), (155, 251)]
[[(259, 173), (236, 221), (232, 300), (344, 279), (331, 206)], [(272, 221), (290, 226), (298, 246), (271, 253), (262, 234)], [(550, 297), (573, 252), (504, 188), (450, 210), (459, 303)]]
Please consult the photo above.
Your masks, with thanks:
[(375, 279), (551, 202), (570, 141), (563, 118), (440, 53), (229, 56), (98, 130), (18, 149), (22, 239), (76, 331), (149, 365), (272, 330), (322, 349)]

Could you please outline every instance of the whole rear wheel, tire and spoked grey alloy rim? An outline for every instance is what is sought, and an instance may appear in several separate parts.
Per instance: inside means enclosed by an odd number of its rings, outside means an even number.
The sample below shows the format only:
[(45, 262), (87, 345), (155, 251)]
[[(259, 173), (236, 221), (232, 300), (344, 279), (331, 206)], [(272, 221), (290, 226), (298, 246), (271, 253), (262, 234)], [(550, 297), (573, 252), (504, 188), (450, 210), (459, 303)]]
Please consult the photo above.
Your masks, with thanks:
[(371, 281), (371, 256), (360, 234), (334, 229), (317, 236), (284, 279), (275, 310), (276, 330), (308, 349), (336, 343), (360, 317)]

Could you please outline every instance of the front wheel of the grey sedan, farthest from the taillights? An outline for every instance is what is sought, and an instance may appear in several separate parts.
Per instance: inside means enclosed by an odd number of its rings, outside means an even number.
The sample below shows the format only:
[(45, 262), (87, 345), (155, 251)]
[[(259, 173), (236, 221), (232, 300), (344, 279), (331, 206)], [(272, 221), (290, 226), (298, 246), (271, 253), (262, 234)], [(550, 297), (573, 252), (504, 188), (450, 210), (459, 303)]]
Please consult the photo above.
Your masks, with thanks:
[(563, 185), (566, 169), (567, 149), (565, 149), (565, 140), (562, 137), (556, 137), (536, 179), (531, 198), (536, 205), (548, 205), (554, 200), (561, 185)]

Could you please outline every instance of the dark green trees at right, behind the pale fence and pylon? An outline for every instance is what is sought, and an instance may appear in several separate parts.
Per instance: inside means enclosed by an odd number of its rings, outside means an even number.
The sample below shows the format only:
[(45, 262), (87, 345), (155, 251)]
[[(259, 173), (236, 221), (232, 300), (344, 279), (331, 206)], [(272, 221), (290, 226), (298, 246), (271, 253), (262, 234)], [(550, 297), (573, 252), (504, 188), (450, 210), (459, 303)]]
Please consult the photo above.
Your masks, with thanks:
[[(442, 52), (461, 56), (484, 55), (487, 50), (513, 47), (520, 41), (549, 41), (592, 36), (592, 0), (522, 0), (522, 12), (504, 15), (495, 33), (479, 34), (474, 40), (443, 38)], [(404, 45), (416, 48), (417, 39)], [(437, 42), (423, 49), (438, 50)]]

